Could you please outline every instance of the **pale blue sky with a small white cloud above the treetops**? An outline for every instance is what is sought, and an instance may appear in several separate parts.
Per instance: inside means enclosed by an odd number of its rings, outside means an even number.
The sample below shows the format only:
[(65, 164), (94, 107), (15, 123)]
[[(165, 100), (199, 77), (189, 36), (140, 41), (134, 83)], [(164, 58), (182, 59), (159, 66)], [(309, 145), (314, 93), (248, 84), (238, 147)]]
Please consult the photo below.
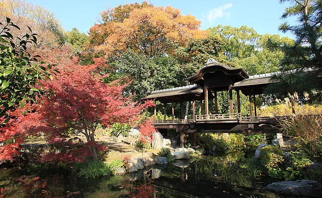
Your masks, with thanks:
[[(53, 12), (66, 31), (76, 27), (87, 33), (98, 21), (100, 13), (108, 8), (120, 4), (129, 4), (142, 1), (132, 0), (27, 0)], [(183, 15), (191, 14), (201, 21), (201, 29), (221, 25), (253, 27), (260, 34), (283, 34), (278, 31), (282, 23), (280, 19), (287, 4), (279, 4), (279, 0), (151, 0), (147, 1), (154, 6), (172, 6), (181, 10)]]

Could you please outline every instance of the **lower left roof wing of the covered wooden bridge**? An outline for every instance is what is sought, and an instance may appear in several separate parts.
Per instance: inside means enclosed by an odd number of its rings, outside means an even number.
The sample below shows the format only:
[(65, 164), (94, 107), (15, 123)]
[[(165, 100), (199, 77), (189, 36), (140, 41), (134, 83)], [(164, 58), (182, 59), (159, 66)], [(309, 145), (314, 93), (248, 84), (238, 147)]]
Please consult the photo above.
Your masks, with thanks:
[(152, 91), (142, 100), (157, 100), (162, 103), (203, 100), (203, 88), (197, 84)]

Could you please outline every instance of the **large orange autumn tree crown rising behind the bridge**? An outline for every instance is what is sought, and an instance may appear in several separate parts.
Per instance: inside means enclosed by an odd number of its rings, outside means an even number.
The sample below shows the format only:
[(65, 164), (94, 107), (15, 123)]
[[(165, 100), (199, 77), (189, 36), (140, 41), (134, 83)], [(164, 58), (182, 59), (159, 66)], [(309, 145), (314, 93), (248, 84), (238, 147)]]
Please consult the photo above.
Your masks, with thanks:
[(180, 10), (172, 7), (136, 8), (128, 18), (105, 26), (104, 31), (109, 33), (97, 49), (107, 57), (123, 53), (126, 49), (150, 58), (171, 54), (190, 39), (206, 36), (206, 32), (200, 30), (200, 24), (194, 16), (183, 16)]

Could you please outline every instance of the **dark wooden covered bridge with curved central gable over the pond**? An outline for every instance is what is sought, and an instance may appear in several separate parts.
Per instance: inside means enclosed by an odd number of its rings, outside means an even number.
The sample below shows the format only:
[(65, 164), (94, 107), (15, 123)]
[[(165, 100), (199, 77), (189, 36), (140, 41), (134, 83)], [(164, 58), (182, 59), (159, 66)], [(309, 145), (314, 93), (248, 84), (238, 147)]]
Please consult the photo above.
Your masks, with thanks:
[[(172, 104), (172, 119), (166, 119), (164, 108), (164, 119), (156, 119), (156, 107), (154, 107), (154, 126), (157, 129), (176, 129), (181, 133), (183, 143), (185, 133), (191, 133), (195, 139), (195, 133), (269, 133), (276, 132), (272, 127), (277, 119), (287, 117), (258, 117), (255, 98), (262, 94), (264, 89), (271, 83), (276, 83), (272, 76), (276, 73), (266, 73), (249, 76), (242, 68), (231, 68), (209, 59), (207, 65), (202, 67), (197, 74), (187, 78), (192, 85), (175, 87), (170, 89), (155, 90), (143, 100), (160, 101), (163, 104)], [(233, 109), (233, 94), (236, 91), (237, 110)], [(229, 113), (218, 114), (218, 91), (229, 93)], [(249, 97), (249, 113), (242, 115), (240, 112), (240, 91)], [(213, 100), (214, 112), (209, 112), (209, 101)], [(192, 118), (184, 118), (183, 102), (192, 102)], [(180, 119), (175, 119), (175, 103), (180, 103)], [(196, 103), (199, 103), (200, 114), (196, 115)], [(254, 108), (254, 110), (253, 110)], [(254, 113), (253, 113), (254, 112)]]

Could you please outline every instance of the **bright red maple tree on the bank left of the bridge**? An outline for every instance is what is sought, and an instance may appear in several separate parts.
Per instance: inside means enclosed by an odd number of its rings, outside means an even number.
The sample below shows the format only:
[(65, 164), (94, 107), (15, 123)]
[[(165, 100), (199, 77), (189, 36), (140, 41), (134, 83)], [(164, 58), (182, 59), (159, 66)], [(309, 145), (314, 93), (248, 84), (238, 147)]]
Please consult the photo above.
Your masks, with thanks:
[[(12, 160), (19, 154), (19, 145), (27, 134), (42, 133), (47, 142), (59, 148), (59, 152), (43, 156), (45, 161), (73, 162), (82, 161), (85, 156), (97, 159), (97, 150), (106, 147), (95, 141), (95, 131), (99, 124), (105, 126), (114, 122), (133, 123), (152, 102), (133, 102), (125, 97), (126, 84), (118, 81), (109, 84), (101, 81), (102, 67), (105, 60), (95, 59), (95, 64), (82, 66), (74, 59), (69, 64), (60, 66), (60, 73), (52, 80), (44, 82), (46, 89), (55, 94), (43, 96), (42, 107), (23, 115), (17, 112), (17, 119), (2, 129), (0, 142), (0, 161)], [(79, 146), (68, 141), (70, 135), (83, 134), (87, 142)]]

